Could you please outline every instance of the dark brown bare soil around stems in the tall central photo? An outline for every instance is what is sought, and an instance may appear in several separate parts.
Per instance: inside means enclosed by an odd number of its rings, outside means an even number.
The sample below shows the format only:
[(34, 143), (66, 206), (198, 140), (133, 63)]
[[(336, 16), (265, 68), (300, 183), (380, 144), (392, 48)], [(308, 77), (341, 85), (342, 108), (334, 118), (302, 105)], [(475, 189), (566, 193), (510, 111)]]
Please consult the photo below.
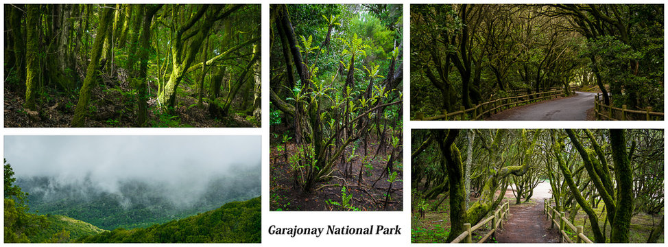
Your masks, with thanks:
[[(377, 150), (377, 142), (369, 140), (368, 155), (373, 156)], [(280, 144), (283, 146), (283, 144)], [(342, 186), (346, 186), (346, 195), (352, 195), (352, 206), (359, 211), (401, 211), (403, 210), (403, 167), (401, 161), (394, 161), (394, 171), (397, 173), (397, 181), (392, 183), (390, 200), (387, 198), (387, 190), (390, 183), (387, 182), (387, 156), (390, 155), (390, 149), (378, 154), (372, 161), (373, 168), (368, 170), (361, 158), (355, 159), (352, 168), (352, 176), (344, 178), (341, 163), (335, 164), (335, 171), (331, 180), (317, 183), (314, 187), (327, 186), (317, 191), (304, 193), (300, 191), (298, 185), (295, 185), (291, 171), (291, 166), (286, 162), (283, 152), (276, 150), (277, 146), (272, 144), (270, 163), (270, 210), (272, 211), (347, 211), (329, 202), (342, 203)], [(348, 152), (350, 152), (350, 148)], [(295, 154), (296, 145), (288, 143), (287, 154)], [(356, 153), (363, 157), (363, 148), (357, 148)], [(396, 155), (396, 154), (395, 154)], [(401, 157), (401, 156), (400, 156)], [(359, 169), (363, 169), (362, 178), (357, 185), (359, 178)], [(376, 182), (377, 181), (377, 182)], [(375, 185), (374, 185), (375, 183)]]

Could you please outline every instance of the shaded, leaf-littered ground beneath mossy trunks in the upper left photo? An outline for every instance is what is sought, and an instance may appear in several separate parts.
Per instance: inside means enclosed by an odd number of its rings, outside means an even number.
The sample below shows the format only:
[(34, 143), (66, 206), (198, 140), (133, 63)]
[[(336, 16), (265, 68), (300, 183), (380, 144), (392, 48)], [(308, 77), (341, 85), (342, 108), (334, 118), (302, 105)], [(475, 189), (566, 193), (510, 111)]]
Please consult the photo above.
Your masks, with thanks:
[[(69, 127), (74, 115), (74, 108), (79, 97), (78, 92), (64, 93), (55, 89), (45, 89), (40, 95), (37, 110), (28, 113), (23, 105), (25, 95), (21, 89), (14, 89), (4, 84), (5, 90), (5, 127)], [(174, 115), (159, 110), (156, 98), (148, 102), (148, 126), (150, 127), (258, 127), (254, 119), (232, 113), (223, 119), (211, 119), (208, 104), (197, 106), (197, 99), (189, 97), (190, 89), (180, 93)], [(151, 92), (156, 88), (152, 87)], [(23, 89), (25, 92), (25, 88)], [(136, 127), (136, 90), (129, 82), (104, 79), (91, 92), (89, 113), (86, 127)], [(232, 111), (232, 110), (230, 110)]]

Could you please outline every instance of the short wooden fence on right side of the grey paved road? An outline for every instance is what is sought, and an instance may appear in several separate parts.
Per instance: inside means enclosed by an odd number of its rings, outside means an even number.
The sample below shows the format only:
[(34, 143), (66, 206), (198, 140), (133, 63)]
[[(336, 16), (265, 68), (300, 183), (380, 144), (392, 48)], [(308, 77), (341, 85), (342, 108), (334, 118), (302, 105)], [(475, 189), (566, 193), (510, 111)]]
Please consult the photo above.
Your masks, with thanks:
[(594, 111), (597, 120), (663, 120), (663, 113), (653, 112), (652, 106), (645, 110), (630, 110), (626, 105), (617, 108), (607, 106), (601, 102), (601, 94), (597, 93), (594, 98)]

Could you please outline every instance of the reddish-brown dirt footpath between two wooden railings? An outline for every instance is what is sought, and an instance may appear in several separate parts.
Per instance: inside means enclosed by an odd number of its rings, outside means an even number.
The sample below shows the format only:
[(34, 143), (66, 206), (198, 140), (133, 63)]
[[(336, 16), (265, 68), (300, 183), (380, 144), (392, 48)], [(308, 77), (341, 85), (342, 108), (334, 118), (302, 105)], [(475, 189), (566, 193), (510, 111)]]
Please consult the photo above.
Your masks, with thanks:
[[(497, 233), (499, 243), (558, 243), (556, 229), (550, 229), (550, 222), (542, 213), (543, 200), (533, 206), (511, 205), (510, 218), (503, 223), (503, 231)], [(528, 207), (525, 207), (528, 206)]]

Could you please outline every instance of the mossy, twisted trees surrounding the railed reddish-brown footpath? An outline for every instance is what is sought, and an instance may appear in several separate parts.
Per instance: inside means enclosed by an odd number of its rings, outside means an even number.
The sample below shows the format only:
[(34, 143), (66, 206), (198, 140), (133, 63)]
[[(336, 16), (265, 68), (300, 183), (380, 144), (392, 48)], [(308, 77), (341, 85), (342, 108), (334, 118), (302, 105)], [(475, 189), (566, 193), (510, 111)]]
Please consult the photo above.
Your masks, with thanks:
[(452, 242), (505, 201), (510, 219), (492, 242), (515, 228), (555, 234), (536, 223), (544, 207), (592, 242), (663, 242), (663, 130), (414, 130), (411, 145), (413, 242)]

